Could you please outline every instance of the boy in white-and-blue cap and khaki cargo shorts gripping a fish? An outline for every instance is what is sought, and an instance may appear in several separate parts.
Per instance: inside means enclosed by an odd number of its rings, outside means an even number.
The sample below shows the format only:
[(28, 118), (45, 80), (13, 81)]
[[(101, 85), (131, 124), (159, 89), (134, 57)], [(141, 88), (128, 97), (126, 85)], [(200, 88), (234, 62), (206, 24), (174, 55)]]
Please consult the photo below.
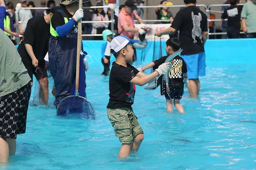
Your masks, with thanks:
[(170, 62), (161, 64), (153, 73), (146, 75), (139, 72), (129, 62), (133, 59), (132, 44), (126, 36), (116, 36), (110, 43), (110, 52), (116, 58), (112, 63), (109, 76), (109, 104), (107, 115), (116, 136), (122, 143), (119, 158), (137, 152), (144, 139), (143, 130), (133, 113), (132, 104), (135, 97), (135, 84), (145, 85), (157, 76), (170, 72)]

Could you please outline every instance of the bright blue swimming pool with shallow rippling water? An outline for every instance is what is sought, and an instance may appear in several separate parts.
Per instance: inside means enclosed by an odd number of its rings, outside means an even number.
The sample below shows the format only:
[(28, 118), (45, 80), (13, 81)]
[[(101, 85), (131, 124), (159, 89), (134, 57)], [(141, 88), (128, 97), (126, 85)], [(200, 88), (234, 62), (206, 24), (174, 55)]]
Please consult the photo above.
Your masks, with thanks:
[(105, 108), (108, 78), (100, 75), (98, 59), (91, 59), (86, 89), (97, 119), (57, 117), (53, 105), (30, 106), (16, 156), (0, 169), (254, 169), (255, 44), (256, 40), (209, 40), (207, 76), (201, 78), (198, 99), (184, 92), (185, 114), (167, 113), (160, 89), (137, 86), (133, 109), (145, 139), (139, 152), (123, 161), (117, 158), (121, 144)]

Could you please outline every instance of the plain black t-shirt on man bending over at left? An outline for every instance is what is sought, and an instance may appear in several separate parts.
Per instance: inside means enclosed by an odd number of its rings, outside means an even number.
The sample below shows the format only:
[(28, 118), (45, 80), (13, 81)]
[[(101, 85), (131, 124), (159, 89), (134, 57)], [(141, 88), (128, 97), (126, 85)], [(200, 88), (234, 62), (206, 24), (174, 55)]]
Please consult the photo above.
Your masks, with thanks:
[(19, 44), (18, 52), (25, 66), (32, 65), (32, 59), (26, 51), (25, 44), (32, 45), (35, 57), (40, 67), (44, 67), (44, 57), (48, 52), (50, 37), (50, 24), (44, 20), (44, 16), (35, 16), (28, 20), (24, 33), (24, 40)]

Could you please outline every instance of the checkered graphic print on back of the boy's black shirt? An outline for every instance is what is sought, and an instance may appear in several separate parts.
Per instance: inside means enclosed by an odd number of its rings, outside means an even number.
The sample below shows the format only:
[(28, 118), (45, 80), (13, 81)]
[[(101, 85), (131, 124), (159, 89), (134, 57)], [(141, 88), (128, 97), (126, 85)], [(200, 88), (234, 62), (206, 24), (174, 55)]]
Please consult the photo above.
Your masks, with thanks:
[(169, 78), (182, 78), (182, 60), (173, 59), (171, 72), (168, 73)]

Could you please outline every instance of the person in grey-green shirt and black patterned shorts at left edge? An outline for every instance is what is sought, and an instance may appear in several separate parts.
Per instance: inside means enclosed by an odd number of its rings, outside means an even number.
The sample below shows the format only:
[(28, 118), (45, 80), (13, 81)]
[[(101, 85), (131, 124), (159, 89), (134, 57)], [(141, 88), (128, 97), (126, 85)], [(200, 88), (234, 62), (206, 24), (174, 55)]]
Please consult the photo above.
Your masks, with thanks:
[(16, 152), (17, 135), (26, 131), (31, 79), (2, 29), (0, 40), (0, 163), (6, 163)]

